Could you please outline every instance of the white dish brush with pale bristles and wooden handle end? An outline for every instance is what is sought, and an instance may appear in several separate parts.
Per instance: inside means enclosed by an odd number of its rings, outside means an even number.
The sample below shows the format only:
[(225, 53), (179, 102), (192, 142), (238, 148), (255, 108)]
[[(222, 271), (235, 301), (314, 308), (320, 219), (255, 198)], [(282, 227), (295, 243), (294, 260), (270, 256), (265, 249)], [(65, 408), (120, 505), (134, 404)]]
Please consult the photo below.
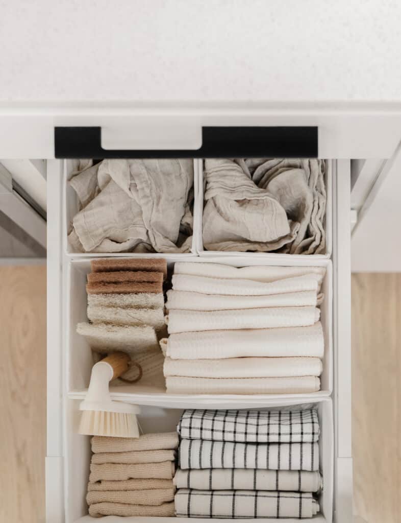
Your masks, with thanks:
[(128, 370), (130, 360), (127, 354), (116, 352), (93, 365), (86, 398), (79, 405), (82, 411), (79, 434), (139, 437), (136, 418), (136, 414), (140, 413), (139, 407), (112, 401), (109, 391), (109, 382)]

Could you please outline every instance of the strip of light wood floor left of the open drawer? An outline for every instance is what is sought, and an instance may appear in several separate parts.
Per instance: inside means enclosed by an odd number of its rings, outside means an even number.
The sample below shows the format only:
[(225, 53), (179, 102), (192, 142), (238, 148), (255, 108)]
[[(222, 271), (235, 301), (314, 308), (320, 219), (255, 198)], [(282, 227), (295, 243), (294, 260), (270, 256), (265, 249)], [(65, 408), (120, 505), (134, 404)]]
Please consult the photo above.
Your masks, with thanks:
[(44, 522), (46, 268), (0, 266), (0, 521)]

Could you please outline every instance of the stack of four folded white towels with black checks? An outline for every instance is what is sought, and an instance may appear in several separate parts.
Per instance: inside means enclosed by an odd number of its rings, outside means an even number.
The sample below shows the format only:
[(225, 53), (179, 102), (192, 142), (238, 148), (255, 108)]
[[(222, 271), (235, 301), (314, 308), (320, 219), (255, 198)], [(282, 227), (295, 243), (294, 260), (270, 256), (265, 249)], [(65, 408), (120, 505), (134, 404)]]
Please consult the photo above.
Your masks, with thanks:
[(310, 518), (322, 488), (317, 411), (184, 411), (178, 517)]

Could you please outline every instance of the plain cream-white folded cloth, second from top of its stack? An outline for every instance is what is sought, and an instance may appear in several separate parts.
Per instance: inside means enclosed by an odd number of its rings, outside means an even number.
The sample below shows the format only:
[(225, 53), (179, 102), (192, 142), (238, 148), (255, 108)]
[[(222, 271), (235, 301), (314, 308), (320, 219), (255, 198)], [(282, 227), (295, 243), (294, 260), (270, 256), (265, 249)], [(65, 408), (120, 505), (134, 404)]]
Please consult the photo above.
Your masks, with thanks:
[(296, 276), (264, 283), (261, 281), (207, 278), (173, 274), (173, 289), (176, 291), (201, 292), (203, 294), (225, 294), (230, 296), (263, 296), (288, 292), (314, 291), (319, 288), (319, 274)]

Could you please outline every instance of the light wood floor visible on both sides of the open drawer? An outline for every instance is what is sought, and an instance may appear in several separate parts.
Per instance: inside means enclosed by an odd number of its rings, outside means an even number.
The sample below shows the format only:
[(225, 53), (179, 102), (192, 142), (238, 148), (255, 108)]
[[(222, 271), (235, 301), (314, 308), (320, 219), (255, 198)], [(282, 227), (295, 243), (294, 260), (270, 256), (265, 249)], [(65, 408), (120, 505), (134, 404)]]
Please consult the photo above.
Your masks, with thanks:
[[(0, 521), (44, 521), (45, 267), (0, 267)], [(355, 513), (399, 523), (401, 274), (352, 277)]]

